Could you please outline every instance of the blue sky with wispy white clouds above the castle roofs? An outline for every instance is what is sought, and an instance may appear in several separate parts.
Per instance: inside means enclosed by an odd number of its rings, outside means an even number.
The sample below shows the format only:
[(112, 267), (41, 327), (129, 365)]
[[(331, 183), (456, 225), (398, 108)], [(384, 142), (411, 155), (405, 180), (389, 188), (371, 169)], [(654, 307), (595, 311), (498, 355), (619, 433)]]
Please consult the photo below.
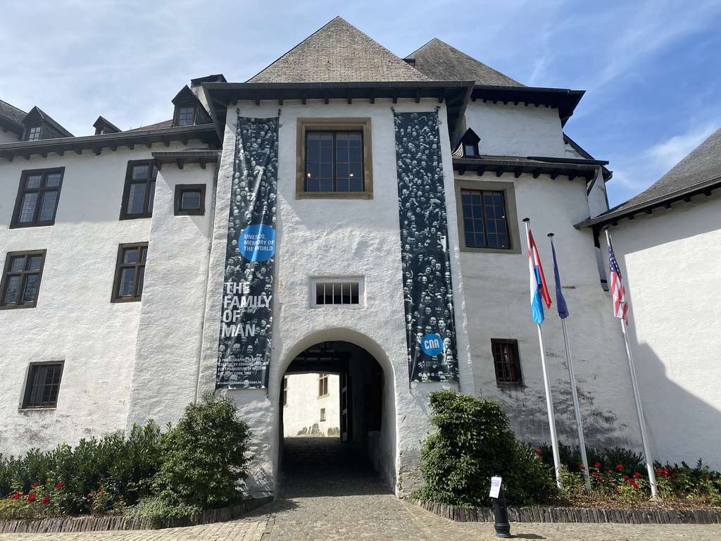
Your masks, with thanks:
[[(439, 38), (528, 86), (587, 91), (566, 133), (611, 162), (611, 205), (721, 126), (717, 0), (4, 1), (0, 99), (77, 136), (172, 117), (195, 77), (253, 76), (340, 15), (398, 56)], [(30, 32), (32, 30), (32, 32)]]

